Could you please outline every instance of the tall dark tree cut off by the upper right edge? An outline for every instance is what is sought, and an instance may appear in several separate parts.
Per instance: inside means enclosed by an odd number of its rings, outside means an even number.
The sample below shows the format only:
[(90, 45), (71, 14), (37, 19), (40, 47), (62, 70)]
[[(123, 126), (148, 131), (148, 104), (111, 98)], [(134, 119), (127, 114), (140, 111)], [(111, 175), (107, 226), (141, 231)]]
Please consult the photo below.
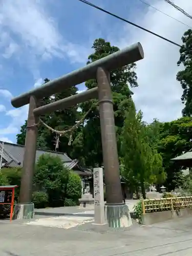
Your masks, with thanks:
[(180, 49), (180, 59), (177, 65), (184, 66), (184, 70), (177, 73), (177, 80), (181, 83), (183, 94), (182, 102), (185, 104), (183, 116), (192, 114), (192, 30), (187, 30), (182, 36), (183, 45)]

